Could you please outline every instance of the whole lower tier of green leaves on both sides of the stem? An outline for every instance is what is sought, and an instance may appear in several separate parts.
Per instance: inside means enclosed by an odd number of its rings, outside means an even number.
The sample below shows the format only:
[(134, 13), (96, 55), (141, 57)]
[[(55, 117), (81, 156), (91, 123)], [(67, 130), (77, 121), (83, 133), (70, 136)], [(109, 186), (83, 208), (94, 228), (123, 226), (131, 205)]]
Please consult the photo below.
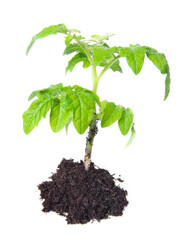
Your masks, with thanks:
[[(123, 135), (126, 135), (133, 125), (133, 112), (113, 102), (102, 101), (92, 91), (78, 85), (63, 87), (62, 83), (49, 88), (32, 92), (28, 100), (33, 100), (30, 107), (23, 113), (24, 132), (29, 134), (42, 118), (50, 111), (50, 126), (53, 132), (59, 132), (69, 124), (73, 125), (79, 134), (88, 128), (92, 118), (101, 121), (101, 127), (109, 127), (118, 121)], [(96, 106), (99, 107), (97, 113)]]

